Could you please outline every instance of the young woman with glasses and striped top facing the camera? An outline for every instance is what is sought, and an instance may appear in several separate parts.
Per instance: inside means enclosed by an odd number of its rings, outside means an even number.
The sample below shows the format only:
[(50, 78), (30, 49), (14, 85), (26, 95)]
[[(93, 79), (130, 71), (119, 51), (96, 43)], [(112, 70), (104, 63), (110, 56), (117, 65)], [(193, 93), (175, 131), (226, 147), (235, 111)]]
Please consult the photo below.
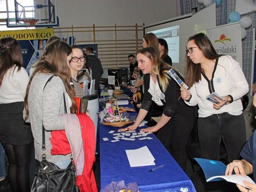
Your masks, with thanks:
[(72, 48), (72, 59), (70, 62), (70, 84), (74, 88), (75, 97), (83, 98), (84, 92), (80, 82), (78, 81), (77, 74), (84, 66), (86, 58), (83, 55), (82, 49), (78, 45), (71, 46)]

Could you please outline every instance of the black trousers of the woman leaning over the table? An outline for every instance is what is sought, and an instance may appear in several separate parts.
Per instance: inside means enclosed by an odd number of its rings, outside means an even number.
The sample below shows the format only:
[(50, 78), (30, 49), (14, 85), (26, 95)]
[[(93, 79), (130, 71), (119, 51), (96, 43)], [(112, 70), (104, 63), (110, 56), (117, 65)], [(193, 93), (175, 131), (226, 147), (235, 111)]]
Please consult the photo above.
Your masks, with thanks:
[(197, 114), (184, 119), (179, 114), (157, 132), (157, 137), (185, 171), (187, 166), (186, 147), (195, 124)]

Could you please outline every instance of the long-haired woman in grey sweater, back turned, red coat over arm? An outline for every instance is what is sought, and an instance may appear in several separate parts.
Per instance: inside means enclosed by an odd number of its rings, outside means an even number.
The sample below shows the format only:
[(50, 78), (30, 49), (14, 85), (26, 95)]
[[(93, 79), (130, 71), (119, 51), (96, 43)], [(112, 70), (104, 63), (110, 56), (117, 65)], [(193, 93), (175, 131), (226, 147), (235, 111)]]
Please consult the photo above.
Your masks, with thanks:
[[(67, 155), (51, 155), (51, 132), (64, 130), (64, 103), (67, 113), (75, 113), (76, 103), (70, 85), (71, 47), (60, 40), (51, 42), (35, 66), (25, 98), (26, 120), (30, 121), (34, 136), (35, 156), (42, 160), (42, 124), (45, 128), (46, 157), (60, 168), (66, 168), (71, 159)], [(50, 79), (51, 78), (51, 79)], [(46, 84), (46, 82), (48, 82)]]

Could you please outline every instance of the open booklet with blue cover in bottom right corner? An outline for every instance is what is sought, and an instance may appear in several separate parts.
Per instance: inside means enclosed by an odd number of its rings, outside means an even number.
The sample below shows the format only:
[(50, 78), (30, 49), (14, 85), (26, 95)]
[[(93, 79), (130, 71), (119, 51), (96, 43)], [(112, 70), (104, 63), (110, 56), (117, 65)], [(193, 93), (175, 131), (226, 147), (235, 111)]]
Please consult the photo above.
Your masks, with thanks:
[(247, 187), (243, 184), (243, 181), (255, 184), (254, 181), (247, 175), (225, 175), (226, 165), (224, 165), (221, 161), (201, 158), (195, 158), (195, 160), (201, 166), (207, 182), (225, 179), (228, 182), (239, 184), (243, 187)]

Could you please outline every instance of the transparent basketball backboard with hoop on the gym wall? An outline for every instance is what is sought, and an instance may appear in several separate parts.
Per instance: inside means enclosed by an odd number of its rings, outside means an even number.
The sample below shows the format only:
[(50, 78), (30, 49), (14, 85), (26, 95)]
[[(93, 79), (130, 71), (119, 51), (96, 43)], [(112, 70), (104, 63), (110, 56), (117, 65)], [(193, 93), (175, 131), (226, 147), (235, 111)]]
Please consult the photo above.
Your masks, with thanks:
[(35, 27), (59, 26), (57, 0), (6, 0), (6, 10), (7, 27), (27, 27), (32, 19)]

